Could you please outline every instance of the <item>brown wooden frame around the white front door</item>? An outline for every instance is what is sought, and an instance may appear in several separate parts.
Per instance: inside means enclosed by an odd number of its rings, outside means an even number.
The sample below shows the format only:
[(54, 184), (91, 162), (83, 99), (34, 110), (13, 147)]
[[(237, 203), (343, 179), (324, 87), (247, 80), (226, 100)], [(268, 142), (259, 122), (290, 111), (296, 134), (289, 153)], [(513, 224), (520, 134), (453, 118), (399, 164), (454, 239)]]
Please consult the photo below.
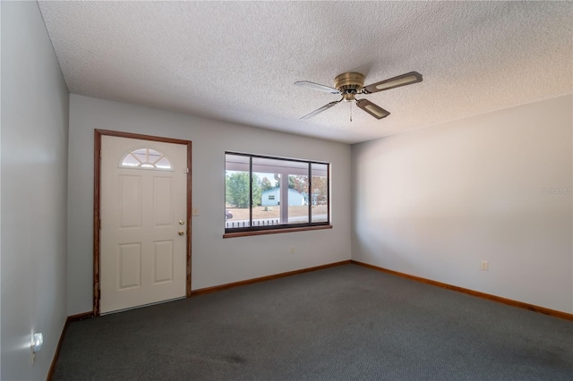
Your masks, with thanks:
[(100, 298), (100, 284), (99, 284), (99, 240), (100, 240), (100, 214), (99, 214), (99, 195), (100, 195), (100, 179), (101, 179), (101, 137), (103, 135), (115, 136), (118, 138), (139, 139), (160, 141), (164, 143), (184, 144), (187, 146), (187, 240), (186, 240), (186, 280), (185, 280), (185, 296), (191, 296), (191, 219), (192, 219), (192, 203), (191, 203), (191, 185), (192, 185), (192, 141), (162, 138), (151, 135), (141, 135), (138, 133), (109, 131), (109, 130), (94, 130), (94, 150), (93, 150), (93, 314), (99, 316), (99, 298)]

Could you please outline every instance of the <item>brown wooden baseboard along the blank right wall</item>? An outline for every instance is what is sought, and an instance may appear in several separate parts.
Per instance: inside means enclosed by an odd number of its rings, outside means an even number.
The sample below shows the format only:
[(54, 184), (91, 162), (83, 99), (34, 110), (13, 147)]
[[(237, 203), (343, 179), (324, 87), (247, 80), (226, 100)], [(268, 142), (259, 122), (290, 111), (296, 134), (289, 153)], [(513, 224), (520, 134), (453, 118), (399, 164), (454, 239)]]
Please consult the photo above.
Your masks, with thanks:
[(511, 299), (502, 298), (500, 296), (492, 295), (489, 293), (470, 290), (470, 289), (467, 289), (464, 287), (458, 287), (458, 286), (455, 286), (452, 284), (444, 284), (441, 282), (432, 281), (431, 279), (422, 278), (420, 276), (408, 275), (408, 274), (400, 273), (398, 271), (389, 270), (388, 268), (378, 267), (378, 266), (370, 265), (368, 263), (359, 262), (359, 261), (354, 260), (354, 259), (351, 259), (350, 263), (354, 263), (355, 265), (359, 265), (359, 266), (363, 266), (363, 267), (372, 268), (374, 270), (378, 270), (378, 271), (381, 271), (383, 273), (388, 273), (391, 275), (398, 275), (398, 276), (401, 276), (403, 278), (411, 279), (411, 280), (416, 281), (416, 282), (422, 282), (423, 284), (432, 284), (434, 286), (446, 288), (448, 290), (466, 293), (468, 295), (472, 295), (472, 296), (475, 296), (478, 298), (487, 299), (488, 301), (496, 301), (498, 303), (503, 303), (503, 304), (507, 304), (509, 306), (517, 307), (519, 309), (529, 309), (531, 311), (539, 312), (539, 313), (542, 313), (544, 315), (550, 315), (550, 316), (555, 317), (555, 318), (564, 318), (566, 320), (573, 321), (573, 314), (568, 314), (567, 312), (562, 312), (562, 311), (558, 311), (555, 309), (547, 309), (545, 307), (540, 307), (540, 306), (535, 306), (533, 304), (524, 303), (523, 301), (514, 301)]

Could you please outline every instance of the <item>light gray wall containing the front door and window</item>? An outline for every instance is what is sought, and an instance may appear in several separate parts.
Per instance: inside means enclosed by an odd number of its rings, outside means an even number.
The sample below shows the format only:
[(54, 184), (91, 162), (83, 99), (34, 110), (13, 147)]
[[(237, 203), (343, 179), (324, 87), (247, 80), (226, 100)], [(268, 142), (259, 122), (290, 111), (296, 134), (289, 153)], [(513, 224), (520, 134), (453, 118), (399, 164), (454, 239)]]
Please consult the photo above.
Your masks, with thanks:
[[(349, 145), (71, 95), (70, 315), (92, 308), (94, 129), (192, 140), (192, 203), (200, 210), (192, 217), (193, 290), (350, 259)], [(334, 228), (224, 240), (226, 150), (331, 163)]]

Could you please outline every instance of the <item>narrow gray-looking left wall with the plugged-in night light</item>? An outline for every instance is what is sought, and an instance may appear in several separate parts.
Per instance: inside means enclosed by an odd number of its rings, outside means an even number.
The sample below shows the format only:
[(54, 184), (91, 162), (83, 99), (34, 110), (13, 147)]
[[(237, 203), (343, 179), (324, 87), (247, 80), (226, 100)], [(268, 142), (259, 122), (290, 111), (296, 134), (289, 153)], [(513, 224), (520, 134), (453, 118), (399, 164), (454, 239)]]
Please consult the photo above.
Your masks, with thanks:
[[(68, 90), (36, 2), (2, 12), (2, 368), (46, 379), (67, 316)], [(30, 335), (44, 346), (30, 364)]]

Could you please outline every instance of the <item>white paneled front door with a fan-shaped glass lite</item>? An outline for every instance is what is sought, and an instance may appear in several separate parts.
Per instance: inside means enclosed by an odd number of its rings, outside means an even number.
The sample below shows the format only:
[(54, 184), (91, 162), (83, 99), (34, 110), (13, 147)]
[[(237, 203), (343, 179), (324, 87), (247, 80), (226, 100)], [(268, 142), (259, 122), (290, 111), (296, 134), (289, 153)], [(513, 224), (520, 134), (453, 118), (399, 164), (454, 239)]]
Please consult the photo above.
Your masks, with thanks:
[(185, 296), (187, 147), (101, 137), (100, 312)]

